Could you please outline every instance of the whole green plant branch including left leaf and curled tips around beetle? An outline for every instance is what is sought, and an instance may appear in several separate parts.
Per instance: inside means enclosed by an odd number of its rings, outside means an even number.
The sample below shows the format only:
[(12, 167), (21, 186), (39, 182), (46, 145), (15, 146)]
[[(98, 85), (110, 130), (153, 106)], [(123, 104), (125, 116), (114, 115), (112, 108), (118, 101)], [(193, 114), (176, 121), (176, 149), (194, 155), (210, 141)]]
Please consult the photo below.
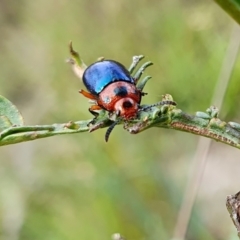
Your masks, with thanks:
[[(68, 62), (72, 65), (75, 74), (81, 79), (86, 65), (78, 52), (73, 49), (71, 42), (69, 51), (71, 58), (68, 59)], [(129, 68), (131, 73), (141, 59), (143, 59), (142, 55), (133, 57), (133, 62)], [(142, 80), (140, 78), (144, 70), (151, 65), (152, 62), (146, 62), (133, 74), (133, 78), (138, 80), (137, 88), (141, 91), (150, 77), (145, 76)], [(185, 113), (176, 108), (175, 102), (169, 94), (164, 95), (162, 101), (156, 104), (139, 106), (138, 116), (128, 121), (118, 119), (114, 113), (101, 110), (98, 116), (91, 120), (36, 126), (24, 126), (23, 118), (18, 109), (8, 99), (0, 96), (0, 146), (55, 135), (92, 132), (110, 126), (106, 135), (108, 138), (113, 129), (113, 122), (123, 124), (124, 129), (132, 134), (151, 127), (169, 128), (208, 137), (240, 148), (240, 124), (221, 121), (218, 118), (218, 109), (213, 106), (208, 108), (206, 112), (197, 112), (195, 115)]]

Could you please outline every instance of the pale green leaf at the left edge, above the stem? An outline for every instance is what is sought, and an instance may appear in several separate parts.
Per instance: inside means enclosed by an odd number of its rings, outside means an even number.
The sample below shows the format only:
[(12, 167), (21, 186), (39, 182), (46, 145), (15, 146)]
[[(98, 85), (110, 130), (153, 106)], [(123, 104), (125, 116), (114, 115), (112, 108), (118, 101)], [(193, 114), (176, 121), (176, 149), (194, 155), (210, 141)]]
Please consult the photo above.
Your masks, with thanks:
[(0, 95), (0, 132), (12, 126), (23, 125), (23, 117), (8, 99)]

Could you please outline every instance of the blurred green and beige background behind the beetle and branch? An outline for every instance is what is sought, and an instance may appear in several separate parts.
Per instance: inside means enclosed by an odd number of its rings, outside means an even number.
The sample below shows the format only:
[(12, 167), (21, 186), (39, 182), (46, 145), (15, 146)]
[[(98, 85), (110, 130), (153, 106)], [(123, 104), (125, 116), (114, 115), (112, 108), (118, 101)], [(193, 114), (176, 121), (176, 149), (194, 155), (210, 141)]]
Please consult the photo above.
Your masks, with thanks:
[[(205, 111), (234, 21), (213, 1), (0, 1), (0, 94), (26, 124), (92, 118), (82, 83), (65, 63), (68, 42), (86, 64), (129, 66), (143, 54), (143, 103), (170, 93), (188, 113)], [(240, 121), (240, 59), (220, 117)], [(0, 239), (171, 239), (199, 137), (121, 126), (0, 149)], [(237, 239), (225, 208), (240, 190), (240, 153), (213, 142), (186, 239)]]

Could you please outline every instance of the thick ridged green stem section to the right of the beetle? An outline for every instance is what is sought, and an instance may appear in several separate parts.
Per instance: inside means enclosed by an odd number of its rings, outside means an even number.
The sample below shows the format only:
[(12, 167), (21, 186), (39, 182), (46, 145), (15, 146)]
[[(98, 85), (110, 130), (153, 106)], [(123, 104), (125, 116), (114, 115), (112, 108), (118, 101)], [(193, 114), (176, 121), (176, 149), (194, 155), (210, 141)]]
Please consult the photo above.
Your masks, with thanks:
[[(161, 112), (157, 111), (154, 114), (159, 115)], [(169, 128), (211, 138), (218, 142), (240, 148), (240, 131), (233, 126), (234, 123), (226, 123), (216, 116), (203, 118), (173, 108), (166, 114), (161, 114), (157, 117), (151, 115), (148, 117), (145, 116), (144, 121), (135, 123), (128, 127), (127, 130), (130, 133), (136, 134), (150, 127)], [(239, 124), (237, 126), (239, 127)]]

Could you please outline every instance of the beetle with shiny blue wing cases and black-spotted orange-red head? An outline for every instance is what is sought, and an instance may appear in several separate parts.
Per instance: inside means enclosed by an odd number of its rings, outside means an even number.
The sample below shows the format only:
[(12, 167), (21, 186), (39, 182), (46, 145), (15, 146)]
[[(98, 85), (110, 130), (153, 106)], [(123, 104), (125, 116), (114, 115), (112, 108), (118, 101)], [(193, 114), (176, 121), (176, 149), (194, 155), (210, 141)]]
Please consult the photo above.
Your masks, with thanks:
[[(146, 94), (142, 92), (142, 88), (137, 87), (140, 76), (138, 79), (133, 78), (121, 63), (114, 60), (95, 62), (84, 71), (82, 79), (88, 92), (85, 90), (79, 92), (86, 98), (94, 100), (89, 111), (94, 116), (98, 116), (96, 110), (104, 109), (116, 114), (118, 119), (108, 128), (105, 135), (106, 141), (120, 119), (124, 121), (134, 119), (140, 109), (146, 109), (140, 106), (142, 96)], [(165, 102), (157, 105), (163, 104)], [(168, 104), (176, 105), (171, 101)]]

